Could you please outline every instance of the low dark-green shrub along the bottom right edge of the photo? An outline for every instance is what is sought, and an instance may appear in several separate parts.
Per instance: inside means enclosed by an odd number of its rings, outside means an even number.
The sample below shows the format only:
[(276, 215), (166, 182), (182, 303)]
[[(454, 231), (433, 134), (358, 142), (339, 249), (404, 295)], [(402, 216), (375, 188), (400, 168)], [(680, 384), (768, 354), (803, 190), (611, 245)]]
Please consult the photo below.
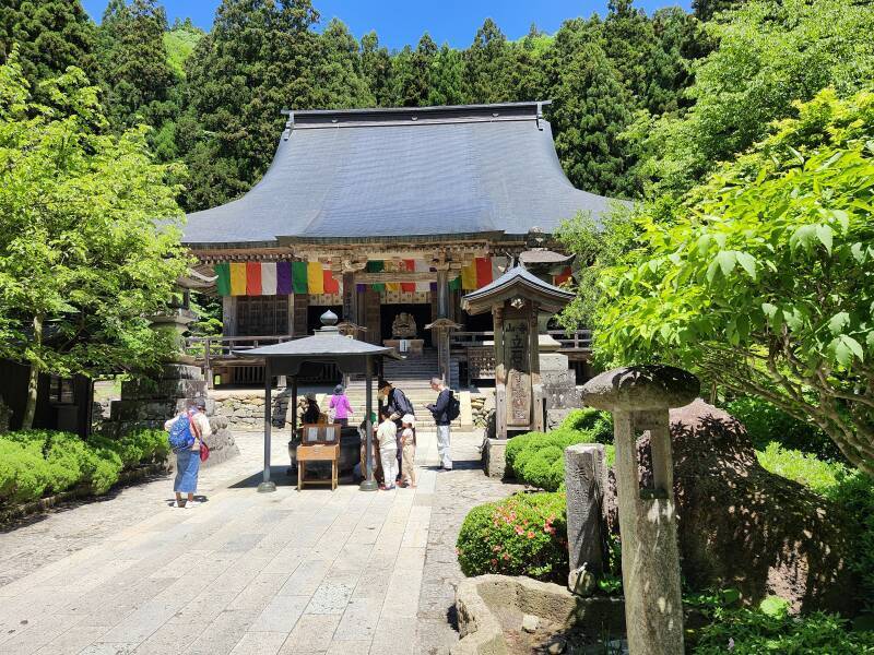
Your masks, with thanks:
[(761, 653), (874, 653), (874, 632), (852, 632), (847, 621), (822, 612), (791, 617), (753, 609), (717, 608), (713, 622), (696, 631), (695, 655)]

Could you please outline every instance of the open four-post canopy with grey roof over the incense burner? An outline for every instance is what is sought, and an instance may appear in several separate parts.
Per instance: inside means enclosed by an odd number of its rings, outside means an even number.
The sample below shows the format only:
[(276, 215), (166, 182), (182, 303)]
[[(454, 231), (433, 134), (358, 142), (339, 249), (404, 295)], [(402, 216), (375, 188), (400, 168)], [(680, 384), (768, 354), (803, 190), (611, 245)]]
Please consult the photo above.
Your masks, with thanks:
[(321, 317), (322, 327), (312, 336), (290, 341), (273, 346), (245, 350), (247, 358), (264, 361), (264, 477), (258, 486), (259, 491), (275, 491), (276, 485), (270, 479), (270, 440), (272, 432), (272, 388), (273, 376), (292, 379), (292, 433), (297, 429), (297, 376), (305, 364), (333, 364), (343, 373), (364, 373), (366, 389), (365, 431), (367, 436), (367, 471), (362, 472), (365, 479), (362, 490), (377, 489), (373, 466), (373, 376), (375, 365), (383, 357), (397, 358), (393, 348), (367, 344), (351, 336), (344, 336), (336, 326), (338, 317), (327, 311)]

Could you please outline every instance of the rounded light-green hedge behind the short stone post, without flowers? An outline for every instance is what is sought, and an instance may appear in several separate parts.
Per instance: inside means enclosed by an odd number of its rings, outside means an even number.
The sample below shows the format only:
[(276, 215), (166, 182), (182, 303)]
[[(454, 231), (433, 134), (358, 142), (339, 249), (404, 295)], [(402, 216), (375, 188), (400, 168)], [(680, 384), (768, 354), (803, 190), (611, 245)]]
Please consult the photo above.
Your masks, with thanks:
[(607, 465), (613, 465), (613, 422), (598, 409), (576, 409), (552, 432), (528, 432), (507, 444), (507, 471), (539, 489), (557, 491), (565, 484), (565, 449), (577, 443), (605, 443)]

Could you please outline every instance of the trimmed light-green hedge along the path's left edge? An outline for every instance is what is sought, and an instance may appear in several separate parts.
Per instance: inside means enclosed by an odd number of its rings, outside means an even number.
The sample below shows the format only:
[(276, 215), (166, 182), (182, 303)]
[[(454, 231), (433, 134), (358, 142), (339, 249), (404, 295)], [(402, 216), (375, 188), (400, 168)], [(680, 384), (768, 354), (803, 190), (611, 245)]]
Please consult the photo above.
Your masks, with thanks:
[(24, 503), (87, 486), (105, 493), (123, 469), (163, 462), (163, 430), (140, 430), (119, 440), (69, 432), (22, 430), (0, 434), (0, 504)]

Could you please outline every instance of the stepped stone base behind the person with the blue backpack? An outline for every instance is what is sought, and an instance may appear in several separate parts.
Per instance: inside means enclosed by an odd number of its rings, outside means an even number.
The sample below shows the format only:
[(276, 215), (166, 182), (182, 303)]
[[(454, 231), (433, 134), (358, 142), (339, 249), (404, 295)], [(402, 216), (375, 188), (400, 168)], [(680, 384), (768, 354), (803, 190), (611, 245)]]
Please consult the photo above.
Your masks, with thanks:
[(104, 432), (120, 437), (142, 428), (163, 429), (168, 418), (191, 406), (196, 398), (206, 398), (206, 416), (213, 433), (204, 439), (210, 458), (203, 466), (220, 464), (238, 455), (239, 449), (227, 427), (227, 418), (215, 415), (215, 402), (206, 394), (206, 381), (200, 368), (186, 364), (164, 365), (157, 380), (122, 383), (121, 400), (111, 403)]

